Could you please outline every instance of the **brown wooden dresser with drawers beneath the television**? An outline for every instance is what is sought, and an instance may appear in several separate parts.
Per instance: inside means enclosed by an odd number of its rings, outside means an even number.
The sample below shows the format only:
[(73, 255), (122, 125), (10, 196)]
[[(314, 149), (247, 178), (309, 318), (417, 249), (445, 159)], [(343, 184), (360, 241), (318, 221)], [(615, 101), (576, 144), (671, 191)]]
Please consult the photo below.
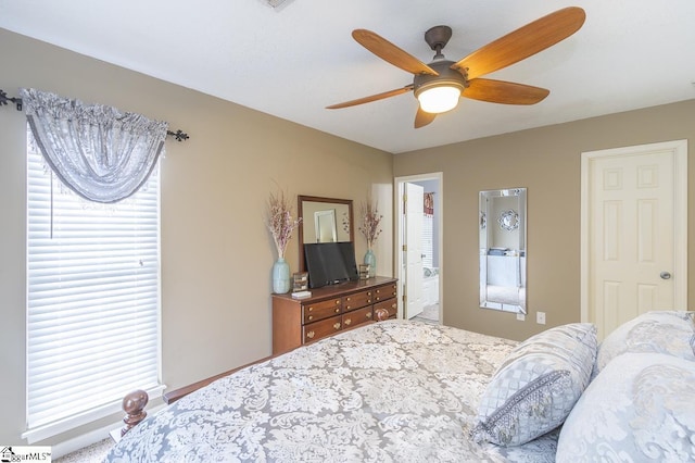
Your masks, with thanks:
[(396, 281), (377, 276), (325, 286), (311, 289), (305, 299), (273, 295), (273, 354), (376, 320), (375, 310), (386, 309), (395, 318)]

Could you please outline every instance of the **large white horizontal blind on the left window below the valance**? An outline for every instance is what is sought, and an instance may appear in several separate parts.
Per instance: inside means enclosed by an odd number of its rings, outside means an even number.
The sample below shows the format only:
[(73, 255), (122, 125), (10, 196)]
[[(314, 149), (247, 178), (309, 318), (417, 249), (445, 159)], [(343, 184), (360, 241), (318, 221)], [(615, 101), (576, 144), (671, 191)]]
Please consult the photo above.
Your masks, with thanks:
[(160, 188), (155, 172), (116, 204), (83, 200), (27, 133), (25, 437), (36, 440), (160, 386)]

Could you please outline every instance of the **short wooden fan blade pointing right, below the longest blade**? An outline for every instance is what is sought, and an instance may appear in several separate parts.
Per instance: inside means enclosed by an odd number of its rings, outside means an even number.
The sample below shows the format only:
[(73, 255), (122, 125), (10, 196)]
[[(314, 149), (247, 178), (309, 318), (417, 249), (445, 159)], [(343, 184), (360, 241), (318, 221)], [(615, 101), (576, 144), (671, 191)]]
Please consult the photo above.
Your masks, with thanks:
[(475, 78), (469, 84), (463, 97), (491, 103), (535, 104), (551, 92), (545, 88), (488, 78)]

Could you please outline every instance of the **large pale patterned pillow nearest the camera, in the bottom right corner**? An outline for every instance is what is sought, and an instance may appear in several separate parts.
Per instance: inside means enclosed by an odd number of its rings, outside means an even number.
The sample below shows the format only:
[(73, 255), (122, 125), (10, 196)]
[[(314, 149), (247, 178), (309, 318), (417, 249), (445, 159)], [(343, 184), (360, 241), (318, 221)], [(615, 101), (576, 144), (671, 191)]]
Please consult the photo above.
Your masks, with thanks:
[(565, 421), (556, 460), (695, 461), (695, 362), (626, 353), (586, 388)]

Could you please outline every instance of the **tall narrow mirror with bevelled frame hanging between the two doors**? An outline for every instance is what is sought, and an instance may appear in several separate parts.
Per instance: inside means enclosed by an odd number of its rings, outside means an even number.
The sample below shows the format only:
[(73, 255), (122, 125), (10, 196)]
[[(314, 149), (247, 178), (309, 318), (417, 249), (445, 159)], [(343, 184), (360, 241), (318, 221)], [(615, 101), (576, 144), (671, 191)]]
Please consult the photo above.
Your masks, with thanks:
[(526, 188), (480, 191), (480, 306), (526, 313)]

